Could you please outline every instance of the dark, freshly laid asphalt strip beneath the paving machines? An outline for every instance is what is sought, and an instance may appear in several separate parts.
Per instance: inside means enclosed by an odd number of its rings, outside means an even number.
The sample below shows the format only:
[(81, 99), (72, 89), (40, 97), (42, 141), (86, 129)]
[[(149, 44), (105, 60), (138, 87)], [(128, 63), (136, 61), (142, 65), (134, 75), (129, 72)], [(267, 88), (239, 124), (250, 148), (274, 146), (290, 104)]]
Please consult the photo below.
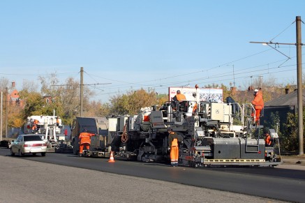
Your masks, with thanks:
[[(8, 153), (8, 149), (0, 149), (1, 155), (5, 156)], [(7, 158), (11, 157), (8, 156)], [(281, 168), (174, 168), (163, 164), (118, 160), (116, 160), (116, 163), (107, 163), (107, 159), (103, 158), (80, 158), (71, 154), (59, 153), (47, 153), (46, 157), (27, 156), (25, 158), (16, 157), (11, 159), (36, 160), (57, 165), (142, 177), (150, 180), (181, 183), (184, 186), (197, 186), (199, 188), (269, 197), (283, 201), (304, 202), (305, 200), (305, 173), (302, 170)], [(202, 198), (204, 198), (204, 195)]]

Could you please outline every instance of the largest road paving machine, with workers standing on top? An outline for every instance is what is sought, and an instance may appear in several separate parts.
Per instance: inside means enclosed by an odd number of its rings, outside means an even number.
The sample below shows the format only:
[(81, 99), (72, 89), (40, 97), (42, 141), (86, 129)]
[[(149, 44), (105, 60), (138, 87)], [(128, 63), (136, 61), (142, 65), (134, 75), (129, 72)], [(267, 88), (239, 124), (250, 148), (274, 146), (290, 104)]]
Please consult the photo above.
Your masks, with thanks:
[[(281, 164), (274, 151), (278, 135), (254, 122), (253, 105), (223, 103), (221, 97), (204, 96), (199, 88), (191, 90), (193, 98), (170, 98), (161, 107), (143, 107), (139, 114), (108, 119), (114, 159), (169, 163), (170, 130), (179, 137), (182, 166)], [(271, 146), (265, 146), (263, 130), (271, 133)]]

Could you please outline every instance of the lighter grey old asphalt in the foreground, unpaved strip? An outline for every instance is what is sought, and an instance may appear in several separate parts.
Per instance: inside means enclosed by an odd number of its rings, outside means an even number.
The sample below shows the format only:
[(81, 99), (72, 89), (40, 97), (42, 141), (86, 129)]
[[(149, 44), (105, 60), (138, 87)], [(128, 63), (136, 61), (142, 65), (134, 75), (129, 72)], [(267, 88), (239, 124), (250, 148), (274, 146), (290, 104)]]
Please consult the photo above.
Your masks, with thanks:
[(0, 202), (280, 202), (0, 156)]

